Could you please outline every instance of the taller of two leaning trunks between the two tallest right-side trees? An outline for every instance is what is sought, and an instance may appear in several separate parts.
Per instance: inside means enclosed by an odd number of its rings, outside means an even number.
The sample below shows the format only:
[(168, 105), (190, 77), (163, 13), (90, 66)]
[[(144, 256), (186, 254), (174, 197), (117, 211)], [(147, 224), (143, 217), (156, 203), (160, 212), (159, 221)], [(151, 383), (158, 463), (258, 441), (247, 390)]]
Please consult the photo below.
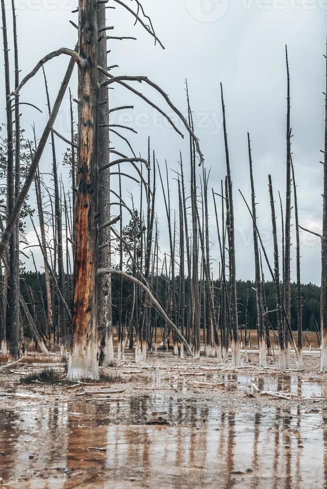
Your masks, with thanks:
[[(249, 164), (250, 164), (252, 215), (253, 215), (253, 219), (255, 221), (257, 221), (256, 194), (255, 194), (255, 189), (254, 189), (251, 142), (250, 142), (250, 134), (249, 133), (248, 133), (248, 149), (249, 149)], [(257, 234), (257, 229), (256, 229), (256, 226), (254, 225), (254, 223), (252, 223), (252, 226), (253, 226), (253, 245), (254, 245), (254, 260), (255, 260), (257, 327), (258, 327), (258, 338), (259, 338), (259, 364), (261, 367), (267, 367), (265, 324), (264, 324), (264, 311), (263, 311), (263, 304), (262, 304), (262, 282), (261, 282), (261, 274), (260, 274), (258, 234)]]

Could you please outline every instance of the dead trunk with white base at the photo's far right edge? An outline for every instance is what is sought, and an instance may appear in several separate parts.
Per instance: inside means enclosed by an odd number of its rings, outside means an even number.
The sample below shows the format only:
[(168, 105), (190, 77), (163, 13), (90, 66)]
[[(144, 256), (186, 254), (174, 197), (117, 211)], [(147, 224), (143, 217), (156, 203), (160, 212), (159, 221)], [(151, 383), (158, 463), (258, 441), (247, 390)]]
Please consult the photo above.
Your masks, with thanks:
[(326, 92), (325, 92), (325, 155), (324, 155), (324, 215), (322, 238), (322, 358), (321, 372), (327, 372), (327, 53), (326, 53)]

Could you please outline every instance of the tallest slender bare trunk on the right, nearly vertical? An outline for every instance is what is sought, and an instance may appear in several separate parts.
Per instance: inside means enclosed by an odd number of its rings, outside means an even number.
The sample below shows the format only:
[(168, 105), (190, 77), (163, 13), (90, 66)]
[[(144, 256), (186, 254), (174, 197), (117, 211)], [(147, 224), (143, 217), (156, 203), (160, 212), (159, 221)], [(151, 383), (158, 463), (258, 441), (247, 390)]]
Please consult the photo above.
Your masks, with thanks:
[[(288, 52), (286, 46), (287, 67), (287, 155), (286, 155), (286, 211), (285, 211), (285, 310), (291, 324), (291, 95), (290, 95), (290, 70)], [(286, 368), (290, 362), (290, 335), (285, 328)]]

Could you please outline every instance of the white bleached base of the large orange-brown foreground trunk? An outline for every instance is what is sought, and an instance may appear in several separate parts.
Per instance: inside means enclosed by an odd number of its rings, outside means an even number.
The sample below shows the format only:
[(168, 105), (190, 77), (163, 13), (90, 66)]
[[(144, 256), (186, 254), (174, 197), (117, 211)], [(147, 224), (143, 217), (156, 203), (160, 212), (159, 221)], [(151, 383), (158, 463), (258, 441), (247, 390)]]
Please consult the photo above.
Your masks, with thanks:
[(97, 358), (97, 345), (88, 344), (85, 346), (75, 344), (69, 353), (69, 364), (67, 379), (99, 379), (99, 364)]

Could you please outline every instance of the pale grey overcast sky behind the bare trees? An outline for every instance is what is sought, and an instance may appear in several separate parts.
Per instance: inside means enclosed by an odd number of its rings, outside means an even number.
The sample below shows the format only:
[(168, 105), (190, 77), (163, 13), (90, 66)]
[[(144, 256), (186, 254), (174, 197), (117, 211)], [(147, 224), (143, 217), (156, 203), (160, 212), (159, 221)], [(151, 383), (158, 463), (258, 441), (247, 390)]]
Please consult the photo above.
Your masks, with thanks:
[[(220, 86), (224, 86), (230, 159), (235, 201), (235, 226), (237, 250), (237, 275), (254, 278), (252, 223), (239, 195), (240, 188), (250, 198), (247, 131), (251, 134), (255, 185), (258, 202), (258, 225), (273, 259), (271, 217), (268, 195), (268, 174), (272, 174), (278, 197), (280, 190), (285, 203), (286, 180), (286, 65), (285, 44), (288, 44), (292, 83), (293, 160), (295, 164), (300, 224), (316, 232), (322, 229), (323, 167), (320, 164), (324, 148), (324, 95), (327, 34), (327, 0), (143, 0), (151, 16), (157, 36), (165, 46), (154, 45), (153, 38), (134, 21), (119, 4), (108, 9), (108, 25), (114, 25), (116, 36), (135, 36), (134, 40), (108, 41), (108, 65), (118, 64), (114, 74), (147, 75), (158, 83), (175, 105), (186, 113), (185, 79), (188, 80), (195, 131), (201, 141), (205, 166), (211, 169), (209, 187), (220, 189), (225, 178), (226, 164), (222, 132)], [(133, 0), (124, 0), (133, 6)], [(11, 42), (11, 8), (7, 5), (9, 42)], [(69, 20), (77, 22), (71, 10), (76, 0), (17, 0), (17, 28), (21, 76), (26, 74), (47, 52), (58, 47), (73, 47), (76, 29)], [(112, 31), (111, 31), (112, 32)], [(11, 51), (12, 54), (12, 51)], [(12, 61), (12, 59), (11, 59)], [(53, 102), (68, 59), (61, 56), (45, 66), (50, 96)], [(13, 71), (13, 67), (11, 64)], [(3, 63), (0, 79), (4, 80)], [(4, 83), (0, 105), (1, 121), (5, 121)], [(13, 86), (12, 86), (13, 88)], [(136, 86), (155, 103), (170, 113), (164, 100), (150, 87)], [(71, 81), (76, 95), (76, 74)], [(134, 110), (115, 114), (115, 122), (129, 125), (138, 131), (131, 137), (134, 149), (143, 156), (147, 153), (147, 137), (164, 168), (167, 160), (171, 176), (178, 169), (179, 150), (185, 166), (189, 165), (188, 138), (183, 140), (168, 127), (163, 118), (147, 107), (133, 94), (117, 88), (110, 91), (111, 106), (134, 105)], [(35, 122), (40, 136), (47, 120), (44, 85), (41, 72), (23, 88), (20, 100), (37, 105), (43, 113), (22, 106), (21, 124), (27, 136)], [(69, 137), (68, 97), (59, 112), (55, 128)], [(179, 128), (184, 131), (182, 124)], [(126, 134), (127, 135), (127, 134)], [(185, 134), (185, 136), (187, 136)], [(65, 144), (56, 140), (58, 160)], [(126, 147), (113, 140), (118, 151)], [(51, 153), (48, 145), (40, 169), (48, 173)], [(60, 173), (69, 187), (67, 170), (60, 165)], [(129, 170), (128, 171), (132, 171)], [(50, 177), (44, 177), (51, 185)], [(113, 180), (115, 186), (117, 182)], [(125, 182), (127, 191), (137, 198), (138, 188)], [(172, 181), (172, 207), (177, 205), (177, 184)], [(33, 190), (31, 203), (34, 205)], [(163, 200), (158, 188), (158, 220), (160, 245), (168, 251), (166, 218)], [(292, 219), (294, 223), (294, 217)], [(280, 225), (280, 213), (278, 212)], [(213, 206), (210, 199), (210, 226), (214, 275), (217, 275), (219, 249), (215, 230)], [(35, 243), (33, 232), (27, 225), (27, 236)], [(295, 243), (295, 239), (293, 240)], [(321, 247), (319, 239), (301, 233), (302, 280), (320, 283)], [(293, 247), (292, 278), (295, 273), (295, 248)], [(30, 261), (30, 260), (29, 260)], [(38, 257), (38, 263), (41, 263)], [(26, 263), (31, 268), (30, 263)], [(268, 278), (268, 275), (267, 275)]]

